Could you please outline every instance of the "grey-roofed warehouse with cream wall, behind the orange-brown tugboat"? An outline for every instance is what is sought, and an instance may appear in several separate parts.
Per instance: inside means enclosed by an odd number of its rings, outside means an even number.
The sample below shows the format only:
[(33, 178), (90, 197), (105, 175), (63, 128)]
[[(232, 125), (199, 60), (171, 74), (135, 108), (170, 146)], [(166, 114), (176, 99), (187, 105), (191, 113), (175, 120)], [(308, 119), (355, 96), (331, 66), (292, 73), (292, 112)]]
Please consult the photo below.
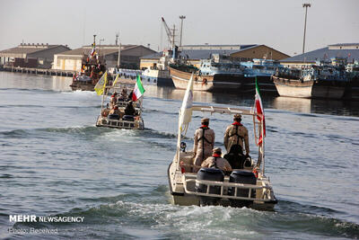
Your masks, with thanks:
[[(80, 71), (83, 56), (88, 56), (91, 50), (92, 46), (83, 46), (83, 48), (59, 53), (54, 57), (52, 68)], [(140, 66), (141, 57), (155, 53), (154, 50), (145, 48), (142, 45), (121, 45), (120, 51), (118, 45), (101, 45), (96, 48), (96, 52), (103, 56), (108, 68), (118, 66), (119, 52), (120, 67), (132, 69)]]

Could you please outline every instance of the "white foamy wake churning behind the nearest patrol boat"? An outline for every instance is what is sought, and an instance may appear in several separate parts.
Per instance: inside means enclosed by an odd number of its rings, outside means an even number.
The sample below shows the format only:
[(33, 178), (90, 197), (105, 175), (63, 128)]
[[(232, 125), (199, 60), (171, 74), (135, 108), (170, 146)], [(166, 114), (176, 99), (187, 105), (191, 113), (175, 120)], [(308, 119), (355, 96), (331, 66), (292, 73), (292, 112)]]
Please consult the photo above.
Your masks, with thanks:
[[(167, 186), (161, 185), (143, 193), (120, 194), (98, 199), (81, 199), (94, 207), (74, 208), (52, 217), (84, 217), (78, 223), (35, 223), (15, 224), (14, 227), (58, 227), (72, 229), (99, 229), (92, 234), (110, 234), (111, 226), (120, 226), (120, 235), (129, 237), (128, 229), (142, 226), (154, 238), (173, 237), (172, 229), (177, 229), (177, 237), (206, 239), (213, 236), (222, 238), (283, 238), (281, 233), (291, 232), (295, 239), (312, 237), (358, 238), (359, 225), (345, 220), (331, 218), (337, 210), (306, 206), (288, 200), (280, 200), (276, 211), (258, 211), (247, 208), (225, 208), (221, 206), (180, 207), (169, 203)], [(118, 229), (116, 231), (118, 231)], [(161, 234), (160, 234), (161, 233)], [(129, 234), (129, 236), (128, 236)], [(158, 236), (160, 235), (160, 236)], [(163, 236), (164, 235), (164, 236)]]

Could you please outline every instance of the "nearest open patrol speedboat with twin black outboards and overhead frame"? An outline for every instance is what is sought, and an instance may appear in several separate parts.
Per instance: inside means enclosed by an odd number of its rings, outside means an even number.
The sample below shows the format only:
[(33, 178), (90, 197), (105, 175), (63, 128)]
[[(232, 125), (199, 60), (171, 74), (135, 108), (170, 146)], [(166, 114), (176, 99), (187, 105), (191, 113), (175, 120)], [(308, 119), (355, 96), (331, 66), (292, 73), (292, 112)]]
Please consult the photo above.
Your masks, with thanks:
[[(180, 108), (177, 150), (168, 168), (172, 203), (181, 206), (221, 205), (273, 210), (277, 200), (269, 177), (265, 174), (265, 138), (262, 138), (265, 136), (264, 114), (258, 113), (256, 108), (246, 110), (193, 105), (192, 81), (193, 76), (188, 82)], [(192, 111), (250, 116), (254, 126), (253, 139), (258, 146), (257, 162), (250, 160), (243, 169), (233, 169), (232, 173), (227, 174), (213, 168), (201, 168), (198, 173), (192, 173), (195, 154), (186, 151), (186, 143), (182, 142), (186, 137)]]

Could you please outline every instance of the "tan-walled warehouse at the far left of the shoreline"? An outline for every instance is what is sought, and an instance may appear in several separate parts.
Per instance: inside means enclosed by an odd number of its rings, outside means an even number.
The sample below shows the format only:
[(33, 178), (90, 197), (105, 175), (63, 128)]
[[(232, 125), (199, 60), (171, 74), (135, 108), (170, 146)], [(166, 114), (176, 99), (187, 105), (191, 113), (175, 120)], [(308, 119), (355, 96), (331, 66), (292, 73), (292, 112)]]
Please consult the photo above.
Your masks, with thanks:
[(70, 48), (64, 45), (21, 43), (15, 48), (0, 51), (0, 65), (51, 68), (54, 55), (67, 50)]

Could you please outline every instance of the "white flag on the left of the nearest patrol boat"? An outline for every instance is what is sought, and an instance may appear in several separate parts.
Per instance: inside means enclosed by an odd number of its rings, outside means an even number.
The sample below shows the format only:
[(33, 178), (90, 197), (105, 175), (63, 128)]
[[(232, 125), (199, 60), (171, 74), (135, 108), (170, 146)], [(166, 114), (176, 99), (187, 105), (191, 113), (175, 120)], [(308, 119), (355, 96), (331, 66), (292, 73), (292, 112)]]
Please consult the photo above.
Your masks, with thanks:
[(187, 129), (188, 123), (192, 118), (192, 104), (193, 104), (193, 73), (189, 78), (187, 90), (185, 96), (183, 97), (182, 106), (180, 107), (180, 130), (183, 131)]

